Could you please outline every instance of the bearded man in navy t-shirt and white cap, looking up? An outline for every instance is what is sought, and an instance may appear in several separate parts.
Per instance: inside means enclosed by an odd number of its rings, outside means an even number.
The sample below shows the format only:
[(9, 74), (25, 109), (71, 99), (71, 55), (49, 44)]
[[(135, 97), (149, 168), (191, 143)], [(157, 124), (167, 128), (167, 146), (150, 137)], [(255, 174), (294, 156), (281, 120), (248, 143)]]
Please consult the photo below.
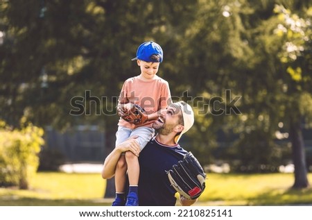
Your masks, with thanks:
[[(173, 103), (162, 111), (159, 119), (153, 123), (157, 135), (139, 152), (137, 137), (130, 137), (105, 159), (102, 177), (112, 178), (121, 153), (131, 151), (139, 156), (139, 205), (175, 205), (175, 189), (171, 186), (166, 171), (177, 164), (187, 153), (177, 144), (180, 137), (193, 126), (194, 114), (191, 106), (183, 101)], [(191, 200), (180, 195), (181, 205), (192, 205)]]

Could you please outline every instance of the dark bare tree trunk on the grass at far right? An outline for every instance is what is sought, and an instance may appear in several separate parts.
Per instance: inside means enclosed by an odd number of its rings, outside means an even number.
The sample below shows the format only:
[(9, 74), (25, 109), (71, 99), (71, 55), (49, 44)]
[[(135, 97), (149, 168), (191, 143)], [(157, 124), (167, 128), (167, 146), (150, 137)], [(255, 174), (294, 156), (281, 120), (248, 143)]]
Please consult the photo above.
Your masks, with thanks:
[(293, 188), (302, 189), (309, 187), (306, 168), (306, 154), (304, 151), (304, 140), (302, 136), (302, 127), (300, 117), (291, 118), (290, 137), (293, 150), (293, 164), (295, 166), (295, 183)]

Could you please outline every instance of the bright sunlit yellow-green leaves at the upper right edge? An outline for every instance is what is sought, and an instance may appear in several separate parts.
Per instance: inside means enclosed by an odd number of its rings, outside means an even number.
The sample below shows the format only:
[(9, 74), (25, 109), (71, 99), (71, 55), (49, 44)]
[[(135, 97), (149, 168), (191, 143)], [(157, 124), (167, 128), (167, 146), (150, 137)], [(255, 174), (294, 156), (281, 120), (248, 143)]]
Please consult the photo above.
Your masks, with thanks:
[(275, 6), (275, 12), (281, 22), (275, 29), (275, 35), (284, 42), (278, 56), (291, 77), (286, 90), (290, 90), (299, 100), (298, 114), (305, 117), (309, 126), (312, 119), (312, 7), (306, 8), (302, 17), (278, 5)]

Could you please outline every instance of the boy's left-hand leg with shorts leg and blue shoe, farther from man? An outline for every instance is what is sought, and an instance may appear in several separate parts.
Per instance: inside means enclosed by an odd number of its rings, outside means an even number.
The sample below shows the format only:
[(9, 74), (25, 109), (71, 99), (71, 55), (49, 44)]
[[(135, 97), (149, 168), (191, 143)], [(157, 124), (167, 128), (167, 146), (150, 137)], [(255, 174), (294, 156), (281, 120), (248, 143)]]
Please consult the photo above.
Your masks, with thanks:
[[(131, 130), (119, 126), (116, 132), (116, 146), (124, 142), (131, 134)], [(123, 206), (125, 205), (125, 174), (127, 171), (127, 164), (125, 162), (125, 155), (121, 155), (119, 161), (116, 164), (115, 170), (115, 189), (116, 197), (112, 203), (112, 206)]]

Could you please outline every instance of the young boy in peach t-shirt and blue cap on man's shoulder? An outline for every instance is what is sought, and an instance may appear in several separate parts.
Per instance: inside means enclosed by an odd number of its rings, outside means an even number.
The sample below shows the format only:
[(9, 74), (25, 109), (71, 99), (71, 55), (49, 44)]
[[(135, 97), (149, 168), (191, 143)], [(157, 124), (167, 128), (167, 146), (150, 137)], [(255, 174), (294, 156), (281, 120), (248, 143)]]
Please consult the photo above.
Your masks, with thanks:
[[(116, 146), (132, 135), (137, 135), (141, 150), (154, 136), (153, 121), (171, 103), (171, 92), (167, 81), (156, 76), (159, 64), (163, 60), (162, 47), (155, 42), (144, 42), (137, 49), (137, 65), (140, 67), (139, 76), (128, 78), (121, 89), (118, 108), (130, 110), (134, 104), (140, 105), (148, 114), (146, 123), (135, 126), (123, 119), (119, 119), (116, 132)], [(115, 187), (116, 198), (113, 206), (137, 206), (139, 183), (139, 155), (126, 151), (116, 164)], [(125, 196), (126, 172), (128, 170), (129, 191)]]

